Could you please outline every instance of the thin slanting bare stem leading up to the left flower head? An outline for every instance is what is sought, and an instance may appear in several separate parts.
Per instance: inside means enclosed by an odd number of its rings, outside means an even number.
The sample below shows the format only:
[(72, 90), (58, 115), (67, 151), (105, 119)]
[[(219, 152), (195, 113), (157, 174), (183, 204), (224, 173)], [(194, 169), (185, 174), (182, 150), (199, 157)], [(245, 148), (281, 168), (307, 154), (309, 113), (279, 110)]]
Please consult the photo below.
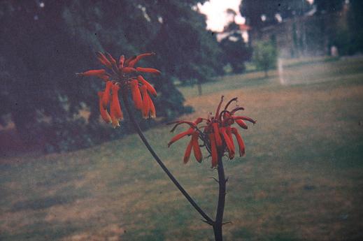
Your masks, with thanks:
[[(175, 184), (176, 187), (178, 187), (179, 191), (181, 193), (183, 193), (183, 195), (185, 196), (185, 198), (187, 198), (187, 200), (195, 208), (195, 210), (197, 210), (197, 212), (199, 212), (199, 214), (201, 214), (201, 216), (204, 217), (204, 219), (206, 219), (205, 220), (206, 223), (207, 224), (210, 224), (214, 228), (214, 223), (215, 222), (203, 210), (201, 210), (201, 208), (197, 205), (197, 203), (195, 203), (195, 201), (193, 200), (193, 198), (179, 184), (179, 182), (176, 180), (176, 178), (173, 176), (173, 174), (171, 174), (170, 171), (168, 170), (168, 168), (166, 168), (166, 166), (164, 165), (164, 163), (162, 162), (162, 160), (159, 159), (159, 156), (157, 156), (157, 154), (154, 152), (154, 150), (152, 149), (152, 147), (148, 143), (148, 140), (146, 140), (145, 136), (143, 136), (143, 132), (141, 131), (140, 126), (138, 126), (138, 124), (136, 122), (136, 119), (134, 117), (134, 114), (130, 110), (129, 101), (127, 99), (127, 93), (125, 93), (125, 92), (122, 93), (122, 100), (124, 101), (124, 107), (126, 108), (126, 111), (129, 114), (129, 118), (130, 118), (132, 124), (134, 125), (134, 129), (137, 131), (138, 136), (140, 136), (141, 140), (145, 144), (146, 148), (148, 148), (149, 152), (152, 154), (152, 156), (154, 157), (155, 161), (157, 161), (157, 163), (162, 168), (162, 170), (164, 170), (164, 172), (166, 173), (166, 175), (168, 175), (168, 177), (170, 178), (171, 182), (173, 182), (173, 184)], [(222, 163), (222, 161), (221, 161), (221, 163)], [(218, 173), (219, 173), (219, 169), (218, 169)]]

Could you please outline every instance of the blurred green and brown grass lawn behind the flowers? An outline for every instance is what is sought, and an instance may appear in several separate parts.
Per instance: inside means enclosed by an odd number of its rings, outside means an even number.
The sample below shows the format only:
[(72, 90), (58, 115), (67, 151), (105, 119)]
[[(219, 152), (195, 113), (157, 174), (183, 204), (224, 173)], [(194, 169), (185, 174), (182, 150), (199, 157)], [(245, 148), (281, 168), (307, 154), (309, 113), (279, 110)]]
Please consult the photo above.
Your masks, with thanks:
[[(225, 240), (363, 240), (363, 59), (291, 64), (287, 85), (269, 76), (230, 75), (203, 85), (202, 96), (180, 88), (196, 110), (183, 119), (214, 111), (222, 94), (257, 119), (241, 130), (245, 157), (225, 163)], [(183, 165), (187, 140), (168, 148), (169, 126), (145, 135), (214, 216), (211, 160)], [(2, 158), (0, 197), (0, 240), (213, 240), (136, 135)]]

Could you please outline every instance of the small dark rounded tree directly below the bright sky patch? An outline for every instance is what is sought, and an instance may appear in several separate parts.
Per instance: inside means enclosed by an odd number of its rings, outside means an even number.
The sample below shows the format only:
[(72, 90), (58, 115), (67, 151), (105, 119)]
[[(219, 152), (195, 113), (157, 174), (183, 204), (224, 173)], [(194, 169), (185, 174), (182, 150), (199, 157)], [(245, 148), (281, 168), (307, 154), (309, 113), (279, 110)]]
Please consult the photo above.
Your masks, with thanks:
[(234, 73), (242, 73), (245, 70), (244, 62), (250, 60), (252, 51), (243, 41), (237, 24), (232, 22), (227, 30), (230, 34), (220, 41), (222, 62), (230, 64)]

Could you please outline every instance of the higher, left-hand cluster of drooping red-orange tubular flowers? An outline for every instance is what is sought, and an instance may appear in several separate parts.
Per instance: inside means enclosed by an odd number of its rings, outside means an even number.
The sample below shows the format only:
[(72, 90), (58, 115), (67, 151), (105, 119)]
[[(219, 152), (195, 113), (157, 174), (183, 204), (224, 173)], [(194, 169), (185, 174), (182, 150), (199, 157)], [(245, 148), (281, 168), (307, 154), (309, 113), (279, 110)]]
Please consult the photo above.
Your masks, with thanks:
[(106, 82), (104, 91), (98, 92), (99, 111), (106, 123), (112, 123), (113, 127), (116, 127), (120, 126), (119, 121), (123, 119), (118, 99), (120, 89), (122, 89), (122, 94), (127, 94), (127, 91), (131, 90), (135, 108), (141, 110), (143, 118), (155, 117), (155, 106), (149, 94), (156, 96), (157, 92), (141, 73), (159, 75), (160, 71), (155, 68), (135, 67), (140, 59), (152, 55), (154, 53), (145, 53), (128, 59), (121, 55), (120, 59), (116, 61), (111, 54), (97, 52), (97, 58), (106, 68), (77, 73), (80, 76), (95, 76)]

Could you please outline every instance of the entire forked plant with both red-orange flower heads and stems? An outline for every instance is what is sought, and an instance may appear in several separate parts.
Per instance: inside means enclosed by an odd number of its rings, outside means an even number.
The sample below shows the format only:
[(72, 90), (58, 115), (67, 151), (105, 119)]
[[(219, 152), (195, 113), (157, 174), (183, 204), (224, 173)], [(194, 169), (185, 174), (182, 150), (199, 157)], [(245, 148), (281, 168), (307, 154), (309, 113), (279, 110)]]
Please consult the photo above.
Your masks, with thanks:
[(104, 122), (112, 124), (114, 128), (120, 126), (120, 121), (123, 119), (123, 113), (118, 98), (119, 94), (121, 94), (124, 108), (126, 109), (138, 136), (140, 136), (145, 144), (145, 147), (149, 150), (166, 175), (168, 175), (173, 184), (175, 184), (180, 192), (183, 193), (183, 196), (185, 196), (194, 209), (201, 214), (204, 221), (213, 227), (215, 240), (221, 241), (226, 182), (228, 180), (225, 178), (222, 158), (225, 154), (227, 154), (229, 159), (234, 158), (235, 147), (232, 135), (236, 137), (240, 156), (243, 156), (245, 153), (243, 139), (239, 135), (238, 130), (232, 127), (232, 124), (236, 123), (243, 129), (247, 129), (247, 125), (244, 121), (255, 124), (255, 120), (250, 119), (249, 117), (236, 116), (235, 113), (237, 111), (243, 110), (241, 107), (228, 110), (229, 105), (233, 101), (236, 101), (237, 98), (233, 98), (229, 101), (227, 105), (225, 105), (224, 110), (221, 111), (220, 108), (223, 102), (222, 96), (213, 117), (209, 115), (206, 119), (199, 117), (194, 122), (177, 121), (171, 123), (174, 124), (171, 131), (174, 131), (180, 124), (187, 124), (189, 126), (187, 131), (183, 131), (174, 136), (168, 144), (170, 147), (177, 140), (180, 140), (180, 138), (191, 136), (190, 143), (188, 143), (187, 149), (185, 150), (183, 162), (187, 163), (189, 161), (191, 152), (193, 151), (195, 159), (200, 163), (203, 160), (201, 147), (205, 147), (209, 156), (211, 156), (211, 167), (218, 170), (218, 207), (215, 219), (213, 220), (201, 209), (201, 207), (199, 207), (199, 205), (197, 205), (189, 193), (185, 191), (168, 168), (166, 168), (162, 160), (159, 159), (159, 156), (157, 156), (148, 143), (148, 140), (143, 135), (143, 132), (134, 117), (134, 112), (129, 103), (129, 94), (131, 94), (132, 101), (134, 102), (134, 108), (141, 111), (143, 118), (148, 119), (156, 116), (155, 106), (150, 94), (152, 96), (157, 96), (157, 92), (141, 74), (151, 73), (159, 75), (160, 71), (155, 68), (135, 67), (139, 60), (152, 55), (154, 55), (154, 53), (145, 53), (128, 59), (125, 59), (124, 55), (121, 55), (118, 61), (116, 61), (111, 54), (97, 52), (97, 58), (105, 68), (85, 71), (83, 73), (77, 73), (77, 75), (95, 76), (106, 83), (104, 91), (98, 92), (99, 111)]

